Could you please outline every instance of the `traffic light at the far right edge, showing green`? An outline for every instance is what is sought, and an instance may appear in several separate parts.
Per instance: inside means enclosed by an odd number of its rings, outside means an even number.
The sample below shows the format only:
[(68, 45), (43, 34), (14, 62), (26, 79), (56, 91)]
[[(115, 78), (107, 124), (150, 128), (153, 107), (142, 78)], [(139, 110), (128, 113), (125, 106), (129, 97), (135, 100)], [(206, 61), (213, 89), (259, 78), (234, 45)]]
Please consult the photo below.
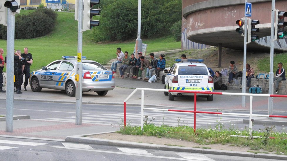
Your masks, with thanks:
[(287, 22), (284, 21), (284, 18), (287, 17), (287, 12), (276, 10), (276, 24), (275, 26), (275, 40), (283, 39), (287, 35), (287, 31), (284, 31), (284, 27), (287, 26)]

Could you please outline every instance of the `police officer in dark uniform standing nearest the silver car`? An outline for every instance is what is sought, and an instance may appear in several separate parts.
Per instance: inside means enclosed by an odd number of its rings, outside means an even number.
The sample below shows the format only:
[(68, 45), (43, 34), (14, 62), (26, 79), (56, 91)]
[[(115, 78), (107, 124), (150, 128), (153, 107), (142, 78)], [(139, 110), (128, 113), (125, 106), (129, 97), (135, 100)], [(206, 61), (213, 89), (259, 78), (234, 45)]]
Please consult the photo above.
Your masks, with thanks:
[[(25, 61), (25, 67), (24, 67), (23, 73), (25, 74), (24, 90), (26, 91), (27, 90), (26, 86), (28, 85), (29, 76), (30, 76), (30, 66), (33, 63), (32, 54), (28, 53), (28, 47), (24, 48), (24, 53), (21, 54), (21, 57), (23, 57)], [(21, 82), (23, 82), (23, 79)], [(20, 87), (21, 85), (22, 84), (20, 84)]]

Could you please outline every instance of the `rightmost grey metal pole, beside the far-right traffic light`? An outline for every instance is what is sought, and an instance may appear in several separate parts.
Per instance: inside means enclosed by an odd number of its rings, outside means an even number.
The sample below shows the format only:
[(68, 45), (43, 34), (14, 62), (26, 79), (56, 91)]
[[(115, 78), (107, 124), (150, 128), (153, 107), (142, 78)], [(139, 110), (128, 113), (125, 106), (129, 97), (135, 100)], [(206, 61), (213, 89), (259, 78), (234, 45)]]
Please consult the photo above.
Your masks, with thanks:
[[(272, 11), (271, 11), (271, 35), (270, 35), (270, 71), (269, 71), (269, 95), (274, 94), (274, 82), (273, 82), (273, 56), (274, 56), (274, 12), (275, 12), (275, 0), (271, 2)], [(277, 16), (277, 15), (276, 15)], [(277, 24), (276, 24), (277, 25)], [(272, 115), (273, 113), (273, 97), (268, 97), (268, 114)], [(269, 117), (268, 119), (272, 119)]]

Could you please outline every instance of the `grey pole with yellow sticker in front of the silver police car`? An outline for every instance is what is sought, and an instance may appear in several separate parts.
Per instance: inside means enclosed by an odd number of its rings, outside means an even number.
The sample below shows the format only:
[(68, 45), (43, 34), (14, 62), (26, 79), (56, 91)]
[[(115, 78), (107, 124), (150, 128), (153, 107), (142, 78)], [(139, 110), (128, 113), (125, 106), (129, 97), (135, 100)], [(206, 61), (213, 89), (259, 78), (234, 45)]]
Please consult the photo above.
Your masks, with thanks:
[(83, 45), (83, 0), (78, 0), (78, 61), (76, 74), (79, 81), (76, 81), (76, 125), (82, 125), (82, 80), (83, 80), (83, 64), (82, 64), (82, 45)]

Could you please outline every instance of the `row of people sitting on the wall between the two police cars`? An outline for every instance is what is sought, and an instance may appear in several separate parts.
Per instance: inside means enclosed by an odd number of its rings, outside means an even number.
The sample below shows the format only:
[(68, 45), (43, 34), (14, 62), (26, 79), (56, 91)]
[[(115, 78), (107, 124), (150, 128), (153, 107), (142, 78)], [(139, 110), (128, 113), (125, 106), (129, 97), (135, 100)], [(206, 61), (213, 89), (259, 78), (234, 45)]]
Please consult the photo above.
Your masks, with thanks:
[[(156, 59), (153, 53), (150, 53), (149, 56), (151, 61), (145, 59), (142, 52), (138, 53), (138, 59), (135, 58), (134, 54), (129, 56), (129, 52), (123, 53), (121, 48), (117, 48), (117, 60), (112, 62), (111, 69), (113, 73), (116, 73), (117, 64), (122, 63), (122, 66), (119, 67), (119, 72), (121, 79), (124, 78), (134, 78), (134, 79), (142, 79), (141, 75), (143, 70), (146, 70), (146, 77), (143, 79), (148, 81), (152, 76), (152, 72), (155, 71), (156, 79), (160, 80), (160, 72), (164, 70), (166, 67), (166, 59), (163, 54), (159, 55), (159, 58)], [(124, 76), (124, 72), (126, 71), (126, 76)]]

